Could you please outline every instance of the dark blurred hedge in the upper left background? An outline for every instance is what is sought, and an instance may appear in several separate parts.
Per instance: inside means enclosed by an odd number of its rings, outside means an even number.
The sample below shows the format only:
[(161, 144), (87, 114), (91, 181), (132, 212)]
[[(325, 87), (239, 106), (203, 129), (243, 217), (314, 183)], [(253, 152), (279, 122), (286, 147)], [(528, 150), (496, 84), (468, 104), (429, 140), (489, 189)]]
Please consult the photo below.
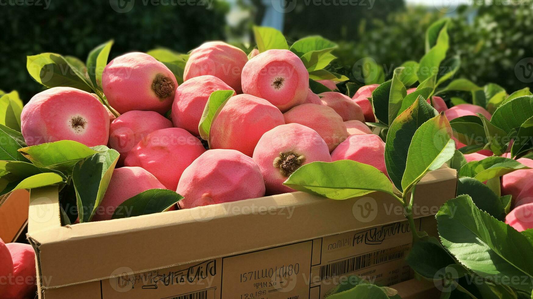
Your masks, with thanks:
[(126, 13), (113, 10), (109, 1), (53, 0), (43, 8), (0, 9), (0, 89), (18, 90), (25, 102), (42, 90), (26, 70), (26, 56), (54, 52), (85, 61), (95, 46), (111, 39), (110, 59), (159, 46), (187, 52), (205, 41), (223, 40), (229, 10), (222, 1), (214, 1), (210, 9), (136, 1)]

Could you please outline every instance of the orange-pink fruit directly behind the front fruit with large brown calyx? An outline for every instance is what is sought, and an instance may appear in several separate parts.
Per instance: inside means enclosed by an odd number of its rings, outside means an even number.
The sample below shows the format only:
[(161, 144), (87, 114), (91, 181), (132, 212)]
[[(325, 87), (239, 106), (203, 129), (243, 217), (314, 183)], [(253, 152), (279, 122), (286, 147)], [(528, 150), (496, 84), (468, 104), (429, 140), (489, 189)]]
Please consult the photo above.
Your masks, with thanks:
[(315, 130), (328, 145), (329, 152), (348, 137), (348, 131), (333, 108), (323, 105), (303, 104), (283, 114), (285, 123), (299, 123)]

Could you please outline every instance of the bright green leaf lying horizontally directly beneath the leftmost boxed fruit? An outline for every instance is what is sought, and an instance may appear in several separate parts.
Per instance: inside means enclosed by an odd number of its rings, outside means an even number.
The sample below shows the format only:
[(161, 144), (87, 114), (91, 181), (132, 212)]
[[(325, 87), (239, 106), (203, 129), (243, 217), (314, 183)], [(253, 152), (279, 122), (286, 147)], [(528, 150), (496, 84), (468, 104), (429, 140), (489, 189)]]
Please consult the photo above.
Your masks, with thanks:
[(64, 171), (70, 169), (79, 160), (94, 155), (99, 151), (73, 140), (60, 140), (20, 148), (19, 152), (37, 167)]

